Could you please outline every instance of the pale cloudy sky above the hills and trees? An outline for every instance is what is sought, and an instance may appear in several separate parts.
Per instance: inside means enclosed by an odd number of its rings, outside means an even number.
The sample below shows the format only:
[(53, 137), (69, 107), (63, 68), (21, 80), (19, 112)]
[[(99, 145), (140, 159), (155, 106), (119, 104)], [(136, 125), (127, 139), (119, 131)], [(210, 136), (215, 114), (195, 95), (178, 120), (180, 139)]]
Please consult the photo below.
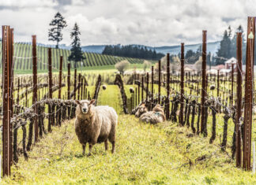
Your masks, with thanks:
[(254, 0), (0, 0), (0, 23), (14, 28), (15, 41), (30, 42), (35, 34), (38, 43), (51, 43), (47, 31), (58, 11), (68, 24), (66, 45), (77, 22), (82, 45), (171, 46), (200, 43), (203, 29), (216, 41), (228, 25), (246, 28), (256, 6)]

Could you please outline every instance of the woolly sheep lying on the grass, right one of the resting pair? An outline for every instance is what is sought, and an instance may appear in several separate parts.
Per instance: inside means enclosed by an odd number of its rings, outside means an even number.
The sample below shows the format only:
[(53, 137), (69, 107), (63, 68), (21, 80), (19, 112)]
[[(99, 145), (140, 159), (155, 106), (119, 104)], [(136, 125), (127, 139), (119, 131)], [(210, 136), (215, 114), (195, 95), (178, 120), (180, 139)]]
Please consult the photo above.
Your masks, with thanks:
[(139, 119), (141, 122), (149, 123), (149, 124), (157, 124), (164, 122), (164, 110), (160, 105), (156, 105), (152, 111), (147, 113), (143, 113)]

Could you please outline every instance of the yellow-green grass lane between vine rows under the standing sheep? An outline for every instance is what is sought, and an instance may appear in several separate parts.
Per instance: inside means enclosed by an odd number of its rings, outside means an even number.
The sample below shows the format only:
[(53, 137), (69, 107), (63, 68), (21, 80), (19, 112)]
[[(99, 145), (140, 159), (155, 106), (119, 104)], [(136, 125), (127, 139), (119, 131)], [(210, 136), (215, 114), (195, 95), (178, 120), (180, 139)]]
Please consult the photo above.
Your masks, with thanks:
[[(88, 87), (91, 91), (93, 87)], [(126, 86), (126, 90), (129, 86)], [(63, 89), (65, 91), (65, 89)], [(54, 94), (56, 95), (56, 94)], [(73, 122), (44, 135), (28, 153), (28, 161), (19, 157), (12, 176), (3, 184), (254, 184), (256, 176), (235, 168), (231, 156), (234, 124), (228, 122), (227, 152), (220, 150), (223, 117), (217, 115), (216, 140), (191, 135), (169, 121), (156, 126), (139, 123), (134, 116), (123, 115), (119, 88), (100, 89), (98, 105), (111, 105), (119, 114), (116, 154), (96, 144), (91, 157), (81, 155), (81, 144)], [(197, 117), (195, 121), (197, 120)], [(256, 140), (253, 127), (253, 140)], [(111, 145), (110, 145), (111, 146)], [(88, 148), (86, 149), (88, 152)]]

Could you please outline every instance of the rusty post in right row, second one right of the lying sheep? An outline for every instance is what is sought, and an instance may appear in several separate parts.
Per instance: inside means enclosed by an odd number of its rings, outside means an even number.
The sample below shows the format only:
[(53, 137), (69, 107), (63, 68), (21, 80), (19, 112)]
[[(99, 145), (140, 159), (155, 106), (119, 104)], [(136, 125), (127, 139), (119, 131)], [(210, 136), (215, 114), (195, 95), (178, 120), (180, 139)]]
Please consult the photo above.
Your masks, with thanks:
[[(184, 43), (181, 43), (180, 55), (180, 109), (179, 109), (179, 125), (183, 125), (183, 107), (184, 107)], [(184, 123), (185, 124), (185, 123)]]

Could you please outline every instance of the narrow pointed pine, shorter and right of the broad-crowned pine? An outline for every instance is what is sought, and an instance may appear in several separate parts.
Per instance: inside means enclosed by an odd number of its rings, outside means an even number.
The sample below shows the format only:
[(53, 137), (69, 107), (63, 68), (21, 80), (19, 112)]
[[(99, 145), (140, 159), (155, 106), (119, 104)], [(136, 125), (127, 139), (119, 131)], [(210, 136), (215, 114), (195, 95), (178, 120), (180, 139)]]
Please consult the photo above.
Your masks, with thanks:
[(77, 68), (77, 62), (85, 59), (83, 53), (81, 51), (81, 41), (79, 39), (79, 35), (81, 35), (77, 23), (74, 24), (73, 31), (70, 36), (73, 39), (71, 43), (71, 54), (68, 58), (69, 61), (74, 61), (74, 67)]

